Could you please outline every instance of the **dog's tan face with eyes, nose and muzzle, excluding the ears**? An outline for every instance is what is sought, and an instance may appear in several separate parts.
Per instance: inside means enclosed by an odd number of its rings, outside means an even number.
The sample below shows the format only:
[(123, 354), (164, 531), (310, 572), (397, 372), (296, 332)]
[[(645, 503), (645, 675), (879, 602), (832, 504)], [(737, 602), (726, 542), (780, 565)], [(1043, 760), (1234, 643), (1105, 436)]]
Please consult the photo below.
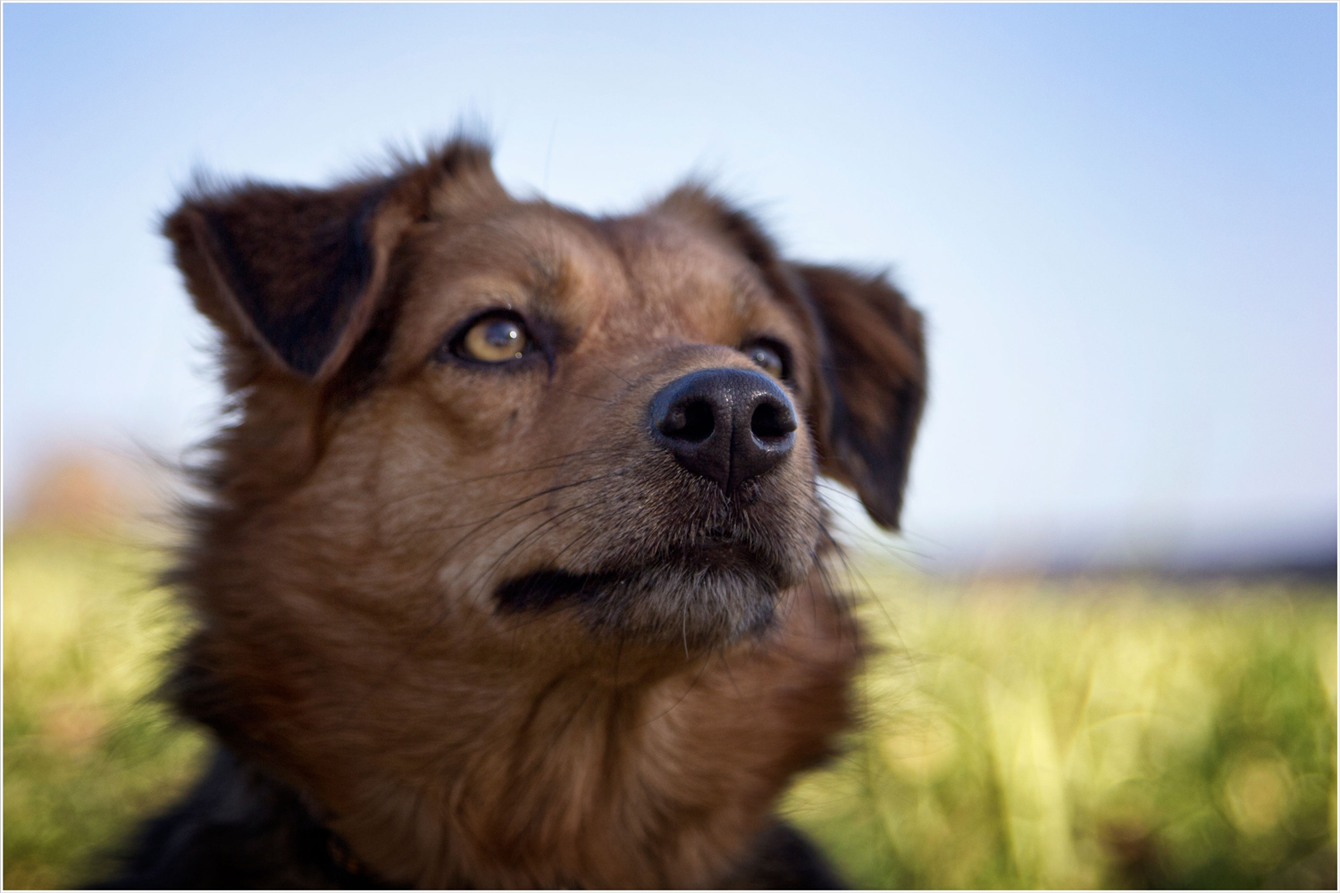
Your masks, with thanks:
[(407, 250), (386, 384), (344, 434), (431, 494), (450, 597), (689, 645), (762, 629), (817, 541), (804, 320), (673, 217), (504, 204)]

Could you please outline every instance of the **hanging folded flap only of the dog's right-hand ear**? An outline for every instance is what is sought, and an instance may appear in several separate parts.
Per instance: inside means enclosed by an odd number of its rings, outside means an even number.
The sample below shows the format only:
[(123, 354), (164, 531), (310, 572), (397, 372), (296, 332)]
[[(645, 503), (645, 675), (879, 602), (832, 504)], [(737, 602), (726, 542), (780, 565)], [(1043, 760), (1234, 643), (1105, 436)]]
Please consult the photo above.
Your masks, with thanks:
[(926, 402), (922, 317), (883, 276), (795, 264), (819, 316), (827, 423), (820, 469), (851, 486), (870, 517), (898, 529)]

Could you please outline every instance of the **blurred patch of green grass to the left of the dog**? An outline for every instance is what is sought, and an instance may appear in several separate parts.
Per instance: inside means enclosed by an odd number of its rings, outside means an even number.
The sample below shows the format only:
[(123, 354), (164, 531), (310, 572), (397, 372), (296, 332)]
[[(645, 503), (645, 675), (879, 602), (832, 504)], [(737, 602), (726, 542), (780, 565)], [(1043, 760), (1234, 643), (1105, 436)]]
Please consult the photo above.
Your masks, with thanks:
[(151, 694), (182, 615), (145, 549), (11, 537), (4, 556), (4, 886), (67, 888), (196, 771)]

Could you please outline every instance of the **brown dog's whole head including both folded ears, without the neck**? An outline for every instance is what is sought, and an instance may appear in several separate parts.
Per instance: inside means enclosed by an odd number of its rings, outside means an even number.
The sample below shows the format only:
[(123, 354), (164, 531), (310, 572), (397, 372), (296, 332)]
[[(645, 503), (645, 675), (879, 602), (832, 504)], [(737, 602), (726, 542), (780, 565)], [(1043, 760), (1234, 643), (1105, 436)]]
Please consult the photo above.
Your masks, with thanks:
[(201, 194), (166, 229), (240, 395), (236, 545), (293, 589), (513, 648), (555, 623), (712, 648), (812, 570), (820, 473), (896, 523), (918, 315), (702, 189), (594, 220), (453, 143), (327, 191)]

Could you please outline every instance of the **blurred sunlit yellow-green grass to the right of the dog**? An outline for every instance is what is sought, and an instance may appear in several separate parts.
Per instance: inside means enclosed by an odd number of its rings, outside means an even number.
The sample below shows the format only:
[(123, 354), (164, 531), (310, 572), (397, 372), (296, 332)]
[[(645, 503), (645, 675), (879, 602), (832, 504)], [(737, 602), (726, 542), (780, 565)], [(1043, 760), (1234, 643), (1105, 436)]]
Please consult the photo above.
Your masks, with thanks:
[(867, 722), (789, 801), (852, 884), (1333, 886), (1333, 586), (864, 577)]

